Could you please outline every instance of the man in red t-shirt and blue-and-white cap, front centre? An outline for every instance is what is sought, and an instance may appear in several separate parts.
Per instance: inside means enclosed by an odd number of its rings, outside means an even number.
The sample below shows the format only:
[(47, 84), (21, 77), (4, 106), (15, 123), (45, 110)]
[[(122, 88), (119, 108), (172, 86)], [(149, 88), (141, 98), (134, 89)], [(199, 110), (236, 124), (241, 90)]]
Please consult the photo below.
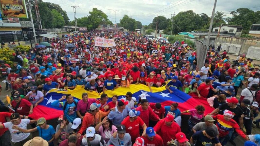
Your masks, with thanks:
[(125, 125), (126, 132), (130, 134), (132, 143), (137, 137), (140, 137), (139, 129), (144, 129), (142, 136), (145, 136), (146, 125), (144, 121), (138, 117), (141, 114), (140, 111), (135, 111), (134, 109), (130, 110), (128, 115), (122, 122), (122, 125)]

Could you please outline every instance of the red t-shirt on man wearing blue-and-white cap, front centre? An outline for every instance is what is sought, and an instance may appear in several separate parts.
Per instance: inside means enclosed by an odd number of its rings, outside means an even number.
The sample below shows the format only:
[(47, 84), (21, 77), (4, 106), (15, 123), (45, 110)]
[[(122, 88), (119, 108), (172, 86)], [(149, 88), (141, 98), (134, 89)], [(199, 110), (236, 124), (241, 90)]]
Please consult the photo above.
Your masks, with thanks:
[(137, 117), (136, 120), (134, 120), (133, 122), (130, 121), (130, 117), (127, 116), (122, 122), (121, 124), (125, 125), (126, 127), (126, 132), (130, 134), (131, 136), (131, 140), (135, 141), (135, 139), (137, 137), (140, 137), (139, 134), (139, 129), (142, 127), (142, 125), (144, 125), (144, 121), (140, 118)]

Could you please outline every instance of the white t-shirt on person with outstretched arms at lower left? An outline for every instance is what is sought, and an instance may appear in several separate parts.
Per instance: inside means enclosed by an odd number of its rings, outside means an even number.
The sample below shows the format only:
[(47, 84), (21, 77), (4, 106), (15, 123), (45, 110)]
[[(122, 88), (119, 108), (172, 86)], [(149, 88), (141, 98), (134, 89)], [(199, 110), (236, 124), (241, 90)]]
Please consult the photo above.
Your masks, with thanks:
[[(29, 123), (30, 123), (29, 119), (22, 119), (21, 123), (18, 124), (17, 126), (19, 128), (22, 128), (22, 129), (27, 129), (27, 124), (29, 124)], [(13, 125), (14, 124), (12, 124), (12, 122), (4, 123), (4, 127), (8, 128), (9, 131), (10, 131), (10, 134), (11, 134), (11, 137), (12, 137), (12, 140), (11, 140), (12, 142), (23, 141), (30, 135), (30, 133), (23, 133), (23, 132), (19, 132), (18, 130), (12, 129)]]

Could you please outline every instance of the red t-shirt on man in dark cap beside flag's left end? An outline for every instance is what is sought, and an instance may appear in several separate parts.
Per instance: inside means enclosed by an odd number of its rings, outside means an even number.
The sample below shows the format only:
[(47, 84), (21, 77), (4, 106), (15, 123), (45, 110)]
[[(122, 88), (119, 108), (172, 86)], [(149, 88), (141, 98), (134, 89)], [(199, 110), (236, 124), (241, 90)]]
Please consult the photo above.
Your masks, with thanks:
[[(12, 107), (15, 108), (17, 103), (15, 101), (12, 101), (11, 102), (12, 104)], [(29, 115), (29, 111), (30, 111), (30, 107), (31, 107), (31, 103), (26, 100), (26, 99), (21, 99), (21, 103), (20, 105), (18, 106), (16, 112), (18, 112), (20, 115), (25, 115), (25, 116), (28, 116)]]

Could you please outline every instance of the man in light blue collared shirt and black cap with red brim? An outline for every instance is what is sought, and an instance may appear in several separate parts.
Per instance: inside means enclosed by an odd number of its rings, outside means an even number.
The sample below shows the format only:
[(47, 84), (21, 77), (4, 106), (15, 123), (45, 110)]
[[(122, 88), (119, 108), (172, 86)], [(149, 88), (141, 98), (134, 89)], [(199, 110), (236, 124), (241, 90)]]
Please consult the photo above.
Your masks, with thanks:
[(127, 117), (128, 112), (131, 110), (126, 106), (127, 104), (128, 101), (120, 99), (115, 110), (110, 111), (107, 117), (112, 121), (113, 125), (120, 125), (123, 119)]

